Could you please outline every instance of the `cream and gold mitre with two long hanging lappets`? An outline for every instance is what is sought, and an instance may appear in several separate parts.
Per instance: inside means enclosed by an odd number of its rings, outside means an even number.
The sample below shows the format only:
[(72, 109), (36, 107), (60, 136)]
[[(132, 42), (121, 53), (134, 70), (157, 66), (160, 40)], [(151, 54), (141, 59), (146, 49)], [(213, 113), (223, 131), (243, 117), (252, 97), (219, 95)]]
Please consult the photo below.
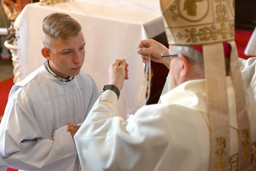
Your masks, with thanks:
[[(229, 65), (236, 94), (238, 118), (238, 170), (250, 170), (251, 155), (248, 154), (251, 154), (251, 147), (248, 144), (251, 144), (251, 129), (234, 42), (234, 1), (160, 0), (160, 7), (169, 45), (203, 47), (212, 171), (217, 168), (227, 170), (230, 155), (229, 102), (223, 42), (230, 44)], [(221, 144), (225, 145), (220, 146)], [(220, 147), (225, 147), (225, 155), (216, 153)]]

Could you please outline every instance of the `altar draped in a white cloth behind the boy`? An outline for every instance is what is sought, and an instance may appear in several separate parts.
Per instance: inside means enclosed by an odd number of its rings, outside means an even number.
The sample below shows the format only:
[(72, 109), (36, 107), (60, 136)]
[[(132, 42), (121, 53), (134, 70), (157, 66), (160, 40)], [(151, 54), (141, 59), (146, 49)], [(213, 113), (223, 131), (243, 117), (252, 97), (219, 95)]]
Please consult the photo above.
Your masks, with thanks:
[[(125, 58), (137, 50), (140, 40), (163, 33), (159, 0), (76, 0), (65, 4), (27, 4), (14, 26), (18, 47), (15, 68), (16, 82), (40, 67), (42, 21), (53, 12), (67, 13), (82, 25), (85, 38), (85, 62), (82, 70), (90, 74), (100, 89), (108, 84), (108, 68), (115, 59)], [(128, 109), (141, 104), (134, 100), (144, 79), (144, 64), (137, 53), (126, 59), (129, 80), (125, 80)], [(119, 98), (119, 114), (126, 119), (124, 89)]]

